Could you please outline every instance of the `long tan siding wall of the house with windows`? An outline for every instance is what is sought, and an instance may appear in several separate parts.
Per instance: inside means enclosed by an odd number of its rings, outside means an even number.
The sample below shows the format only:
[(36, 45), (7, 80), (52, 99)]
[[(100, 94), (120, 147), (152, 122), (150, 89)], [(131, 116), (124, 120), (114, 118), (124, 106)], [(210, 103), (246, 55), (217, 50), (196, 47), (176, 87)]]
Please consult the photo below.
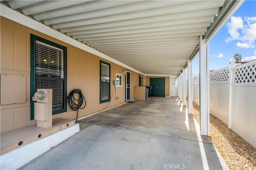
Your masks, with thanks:
[[(107, 107), (125, 102), (126, 68), (106, 61), (65, 42), (44, 35), (4, 17), (1, 18), (1, 72), (6, 74), (26, 74), (26, 104), (1, 106), (1, 133), (36, 123), (30, 120), (30, 34), (37, 35), (67, 47), (67, 93), (81, 88), (86, 99), (86, 107), (79, 109), (78, 117), (84, 117)], [(100, 104), (100, 60), (111, 64), (110, 97), (111, 102)], [(4, 66), (4, 67), (2, 67)], [(23, 73), (22, 73), (23, 72)], [(122, 74), (122, 87), (114, 88), (116, 73)], [(138, 86), (138, 73), (131, 71), (131, 99), (134, 99), (134, 86)], [(117, 98), (118, 97), (118, 98)], [(107, 107), (106, 107), (107, 106)], [(67, 112), (53, 115), (53, 118), (75, 119), (76, 111), (67, 105)]]

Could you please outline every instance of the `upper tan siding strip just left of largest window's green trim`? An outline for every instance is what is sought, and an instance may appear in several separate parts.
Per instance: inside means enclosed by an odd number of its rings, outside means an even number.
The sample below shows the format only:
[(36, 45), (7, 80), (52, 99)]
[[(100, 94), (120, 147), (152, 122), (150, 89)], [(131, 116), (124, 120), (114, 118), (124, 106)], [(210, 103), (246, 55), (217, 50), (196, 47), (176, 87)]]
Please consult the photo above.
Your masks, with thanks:
[(19, 23), (14, 25), (15, 70), (27, 71), (27, 27)]

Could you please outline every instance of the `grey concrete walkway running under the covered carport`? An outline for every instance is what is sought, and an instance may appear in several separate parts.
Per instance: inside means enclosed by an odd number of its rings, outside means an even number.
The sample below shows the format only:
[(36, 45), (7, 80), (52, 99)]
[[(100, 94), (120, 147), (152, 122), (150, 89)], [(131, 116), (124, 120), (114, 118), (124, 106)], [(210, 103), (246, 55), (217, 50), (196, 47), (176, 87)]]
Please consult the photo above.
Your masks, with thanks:
[(127, 103), (79, 124), (79, 133), (21, 169), (228, 169), (177, 98)]

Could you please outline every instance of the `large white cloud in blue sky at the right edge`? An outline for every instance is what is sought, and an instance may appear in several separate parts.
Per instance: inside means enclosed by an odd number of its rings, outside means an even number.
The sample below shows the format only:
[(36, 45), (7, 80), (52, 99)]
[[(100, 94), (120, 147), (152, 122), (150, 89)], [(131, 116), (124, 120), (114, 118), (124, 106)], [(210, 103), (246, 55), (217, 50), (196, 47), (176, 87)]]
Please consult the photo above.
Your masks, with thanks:
[(230, 37), (225, 39), (225, 42), (239, 40), (236, 46), (239, 48), (254, 48), (256, 41), (256, 16), (241, 17), (232, 16), (230, 22), (226, 24)]

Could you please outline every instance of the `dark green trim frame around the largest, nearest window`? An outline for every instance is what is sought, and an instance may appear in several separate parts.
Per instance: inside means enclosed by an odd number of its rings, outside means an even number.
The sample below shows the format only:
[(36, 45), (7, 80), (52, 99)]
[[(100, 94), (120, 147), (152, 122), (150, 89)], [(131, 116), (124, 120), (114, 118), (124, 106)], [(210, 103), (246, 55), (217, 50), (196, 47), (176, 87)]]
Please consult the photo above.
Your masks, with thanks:
[(32, 101), (32, 96), (34, 96), (34, 92), (36, 92), (36, 61), (35, 61), (35, 49), (36, 49), (36, 41), (41, 41), (42, 43), (46, 43), (48, 45), (58, 47), (63, 50), (63, 68), (64, 68), (64, 98), (63, 98), (63, 108), (57, 111), (53, 111), (52, 115), (56, 115), (58, 113), (64, 113), (67, 111), (67, 103), (65, 101), (65, 97), (67, 96), (67, 47), (49, 41), (47, 39), (38, 37), (36, 35), (30, 34), (30, 119), (34, 119), (34, 101)]

